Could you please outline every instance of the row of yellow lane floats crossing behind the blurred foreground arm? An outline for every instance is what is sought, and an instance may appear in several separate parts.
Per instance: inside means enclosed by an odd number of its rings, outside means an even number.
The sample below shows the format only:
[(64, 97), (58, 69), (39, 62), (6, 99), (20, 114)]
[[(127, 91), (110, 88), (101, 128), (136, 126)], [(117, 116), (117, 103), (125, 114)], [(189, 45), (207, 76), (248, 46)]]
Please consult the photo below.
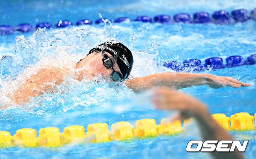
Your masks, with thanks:
[[(231, 117), (226, 117), (225, 114), (212, 114), (211, 117), (226, 130), (252, 130), (254, 129), (256, 113), (254, 117), (246, 112), (236, 113)], [(191, 120), (184, 120), (184, 126)], [(183, 128), (180, 120), (170, 121), (169, 118), (162, 119), (160, 125), (156, 125), (154, 119), (141, 119), (136, 121), (135, 126), (136, 128), (129, 122), (121, 121), (112, 124), (110, 132), (106, 123), (95, 123), (87, 126), (86, 134), (84, 127), (79, 125), (67, 126), (63, 133), (59, 132), (59, 128), (47, 127), (39, 130), (39, 137), (37, 137), (35, 129), (32, 128), (19, 129), (14, 136), (11, 136), (7, 131), (0, 131), (0, 147), (56, 147), (85, 141), (99, 143), (111, 140), (127, 140), (132, 137), (176, 134), (181, 132)]]

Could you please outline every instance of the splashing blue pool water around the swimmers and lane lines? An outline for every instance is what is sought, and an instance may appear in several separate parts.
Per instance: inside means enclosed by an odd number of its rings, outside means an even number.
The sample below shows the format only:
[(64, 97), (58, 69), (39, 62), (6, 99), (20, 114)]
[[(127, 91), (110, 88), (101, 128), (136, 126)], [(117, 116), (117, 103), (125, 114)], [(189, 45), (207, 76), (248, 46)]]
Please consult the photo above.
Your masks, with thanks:
[[(181, 0), (169, 2), (160, 0), (150, 2), (141, 0), (129, 2), (101, 1), (2, 1), (0, 5), (0, 25), (15, 26), (19, 23), (59, 20), (76, 20), (88, 18), (96, 20), (98, 13), (107, 18), (139, 15), (153, 17), (157, 14), (170, 14), (196, 11), (213, 11), (219, 9), (245, 8), (254, 9), (255, 0), (232, 2)], [(105, 10), (105, 11), (104, 11)], [(225, 59), (232, 55), (244, 58), (256, 52), (256, 21), (230, 25), (215, 24), (159, 24), (159, 23), (112, 23), (111, 25), (91, 25), (70, 27), (56, 30), (38, 30), (30, 33), (15, 33), (0, 36), (0, 55), (9, 55), (0, 61), (0, 96), (1, 102), (6, 93), (15, 90), (26, 74), (36, 72), (37, 61), (45, 65), (72, 63), (83, 58), (94, 46), (108, 40), (124, 43), (134, 54), (132, 76), (146, 76), (156, 72), (172, 71), (161, 67), (165, 61), (188, 60), (218, 56)], [(158, 64), (158, 65), (157, 65)], [(198, 86), (182, 89), (209, 105), (210, 112), (224, 113), (231, 116), (237, 112), (256, 112), (256, 65), (207, 70), (220, 76), (232, 76), (251, 87), (234, 89), (230, 87), (211, 89)], [(24, 72), (21, 74), (21, 72)], [(65, 85), (67, 84), (67, 85)], [(20, 128), (34, 128), (37, 134), (40, 128), (56, 126), (63, 132), (69, 125), (82, 125), (87, 129), (91, 123), (103, 122), (109, 126), (118, 121), (135, 121), (143, 118), (154, 118), (157, 124), (169, 117), (169, 112), (154, 110), (152, 105), (140, 105), (135, 99), (138, 96), (125, 85), (115, 86), (102, 81), (78, 82), (69, 78), (58, 86), (54, 94), (45, 94), (33, 98), (25, 107), (8, 107), (0, 110), (0, 130), (14, 135)], [(87, 131), (87, 130), (85, 130)], [(235, 138), (249, 139), (245, 155), (248, 159), (256, 155), (255, 131), (230, 132)], [(207, 153), (187, 153), (186, 145), (191, 139), (199, 139), (196, 124), (188, 126), (178, 136), (159, 136), (156, 138), (138, 139), (129, 142), (107, 142), (82, 145), (65, 145), (58, 148), (4, 148), (0, 149), (0, 158), (208, 158)]]

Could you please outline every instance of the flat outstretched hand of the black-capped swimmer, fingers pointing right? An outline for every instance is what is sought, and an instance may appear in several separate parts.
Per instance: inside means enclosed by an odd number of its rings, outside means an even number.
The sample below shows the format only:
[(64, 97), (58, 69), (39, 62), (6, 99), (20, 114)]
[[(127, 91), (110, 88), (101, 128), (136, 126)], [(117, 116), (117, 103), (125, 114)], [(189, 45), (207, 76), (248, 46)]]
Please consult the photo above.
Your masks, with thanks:
[(226, 86), (231, 86), (234, 88), (239, 88), (241, 86), (243, 87), (250, 86), (249, 83), (243, 83), (232, 77), (215, 76), (213, 74), (204, 74), (203, 76), (204, 76), (203, 78), (206, 80), (206, 85), (215, 89), (219, 87), (226, 87)]

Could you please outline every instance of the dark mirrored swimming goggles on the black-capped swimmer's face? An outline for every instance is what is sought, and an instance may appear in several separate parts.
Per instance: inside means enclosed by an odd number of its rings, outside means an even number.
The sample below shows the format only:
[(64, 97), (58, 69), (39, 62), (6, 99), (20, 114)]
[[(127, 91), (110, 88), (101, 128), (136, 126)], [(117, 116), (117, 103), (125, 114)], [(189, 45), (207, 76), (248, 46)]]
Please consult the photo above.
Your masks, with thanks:
[[(105, 52), (102, 52), (102, 62), (103, 62), (103, 65), (107, 69), (113, 69), (114, 70), (113, 62)], [(113, 81), (121, 81), (122, 80), (122, 74), (120, 74), (119, 72), (116, 72), (114, 70), (114, 73), (112, 74), (112, 79), (113, 79)]]

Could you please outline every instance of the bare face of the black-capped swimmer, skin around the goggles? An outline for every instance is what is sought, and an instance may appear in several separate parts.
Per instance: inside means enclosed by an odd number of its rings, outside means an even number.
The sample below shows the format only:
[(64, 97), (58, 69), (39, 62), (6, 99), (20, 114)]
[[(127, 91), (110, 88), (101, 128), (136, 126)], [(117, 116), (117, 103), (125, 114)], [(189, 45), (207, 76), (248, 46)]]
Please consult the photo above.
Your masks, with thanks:
[(87, 57), (88, 66), (90, 67), (89, 74), (91, 77), (99, 76), (101, 75), (103, 78), (111, 78), (114, 72), (121, 73), (116, 61), (114, 60), (113, 56), (109, 54), (108, 52), (104, 52), (107, 56), (107, 58), (110, 58), (111, 62), (113, 63), (113, 68), (108, 69), (103, 61), (102, 61), (102, 52), (94, 52), (92, 54), (89, 54)]

